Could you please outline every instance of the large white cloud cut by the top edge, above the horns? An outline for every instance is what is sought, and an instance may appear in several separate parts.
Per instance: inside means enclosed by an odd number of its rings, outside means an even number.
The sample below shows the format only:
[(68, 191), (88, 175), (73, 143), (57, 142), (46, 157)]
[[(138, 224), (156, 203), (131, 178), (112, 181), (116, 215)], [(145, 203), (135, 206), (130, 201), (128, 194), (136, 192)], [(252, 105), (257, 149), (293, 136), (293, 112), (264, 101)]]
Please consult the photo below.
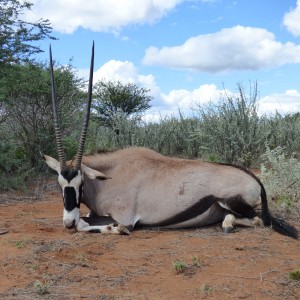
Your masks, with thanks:
[(73, 33), (78, 27), (119, 31), (132, 24), (152, 24), (184, 0), (32, 0), (27, 20), (48, 19), (53, 29)]

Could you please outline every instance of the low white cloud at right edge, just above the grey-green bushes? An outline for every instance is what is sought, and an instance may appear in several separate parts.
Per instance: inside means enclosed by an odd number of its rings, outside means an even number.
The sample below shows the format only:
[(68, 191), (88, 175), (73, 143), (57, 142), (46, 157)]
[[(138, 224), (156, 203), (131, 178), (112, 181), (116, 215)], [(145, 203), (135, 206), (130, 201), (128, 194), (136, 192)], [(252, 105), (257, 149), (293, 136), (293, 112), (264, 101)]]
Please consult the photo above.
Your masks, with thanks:
[(258, 106), (260, 115), (275, 114), (276, 111), (280, 114), (300, 112), (300, 91), (287, 90), (283, 94), (271, 94), (262, 98)]

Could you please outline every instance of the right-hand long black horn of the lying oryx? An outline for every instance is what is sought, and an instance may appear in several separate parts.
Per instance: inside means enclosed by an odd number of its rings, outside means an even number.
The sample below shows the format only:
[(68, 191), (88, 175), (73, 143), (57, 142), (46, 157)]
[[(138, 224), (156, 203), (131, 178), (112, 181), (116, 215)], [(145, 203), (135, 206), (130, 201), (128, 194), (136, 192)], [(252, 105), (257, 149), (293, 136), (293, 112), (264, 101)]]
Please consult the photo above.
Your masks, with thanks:
[(76, 169), (80, 169), (81, 167), (81, 160), (83, 155), (83, 148), (86, 139), (87, 129), (89, 126), (89, 119), (90, 119), (90, 110), (91, 110), (91, 102), (92, 102), (92, 89), (93, 89), (93, 74), (94, 74), (94, 42), (92, 47), (92, 57), (91, 57), (91, 66), (90, 66), (90, 79), (89, 79), (89, 89), (88, 89), (88, 103), (87, 109), (85, 113), (85, 118), (82, 125), (79, 146), (76, 154), (76, 162), (75, 167)]

